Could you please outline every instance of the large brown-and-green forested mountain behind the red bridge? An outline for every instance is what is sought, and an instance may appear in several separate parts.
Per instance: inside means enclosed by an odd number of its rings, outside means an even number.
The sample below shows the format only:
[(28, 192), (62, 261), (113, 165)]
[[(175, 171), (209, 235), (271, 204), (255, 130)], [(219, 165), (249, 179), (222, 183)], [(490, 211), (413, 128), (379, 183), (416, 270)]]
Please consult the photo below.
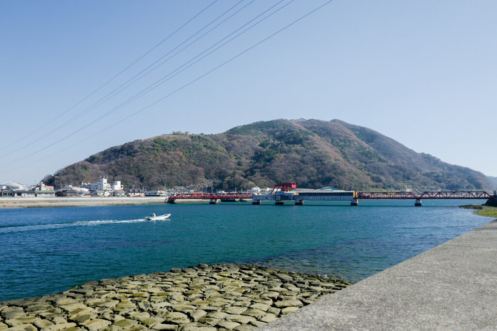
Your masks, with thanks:
[[(368, 128), (339, 120), (274, 120), (219, 134), (166, 134), (108, 148), (45, 181), (79, 185), (107, 176), (125, 187), (272, 187), (346, 190), (490, 190), (480, 172), (416, 153)], [(210, 182), (213, 184), (210, 184)]]

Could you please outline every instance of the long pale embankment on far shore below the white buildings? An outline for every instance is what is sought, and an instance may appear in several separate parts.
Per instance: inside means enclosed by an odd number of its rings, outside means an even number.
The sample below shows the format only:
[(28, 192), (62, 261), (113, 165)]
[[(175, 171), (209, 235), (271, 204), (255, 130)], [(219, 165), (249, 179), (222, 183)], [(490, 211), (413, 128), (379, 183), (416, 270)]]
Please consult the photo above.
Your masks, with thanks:
[(75, 207), (128, 204), (160, 204), (166, 197), (8, 197), (0, 198), (0, 208)]

